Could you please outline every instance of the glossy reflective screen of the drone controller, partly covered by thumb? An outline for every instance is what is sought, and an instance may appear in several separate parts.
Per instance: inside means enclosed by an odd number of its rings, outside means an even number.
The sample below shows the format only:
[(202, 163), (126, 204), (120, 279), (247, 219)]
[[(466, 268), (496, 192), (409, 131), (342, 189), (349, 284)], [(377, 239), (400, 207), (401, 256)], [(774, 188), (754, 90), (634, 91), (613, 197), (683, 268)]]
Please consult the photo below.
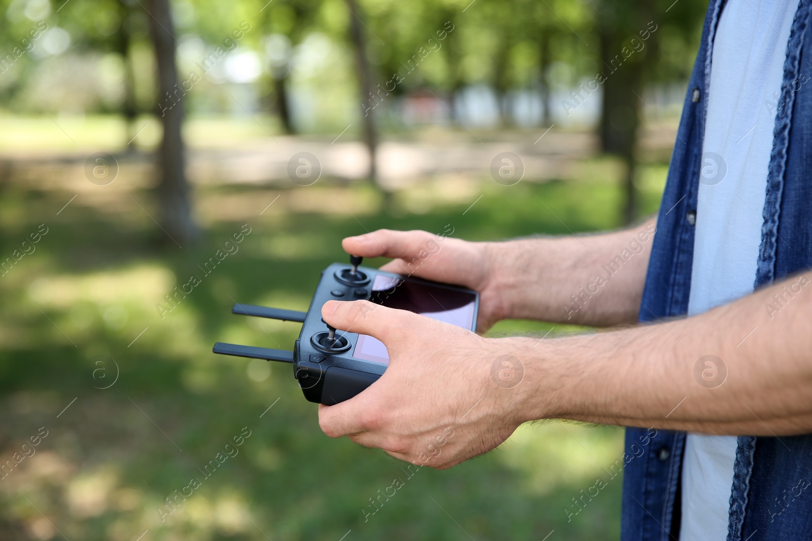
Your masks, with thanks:
[[(372, 282), (369, 300), (385, 307), (413, 311), (433, 320), (473, 329), (476, 297), (465, 291), (378, 274)], [(389, 364), (387, 347), (382, 341), (366, 334), (358, 336), (352, 356), (373, 363)]]

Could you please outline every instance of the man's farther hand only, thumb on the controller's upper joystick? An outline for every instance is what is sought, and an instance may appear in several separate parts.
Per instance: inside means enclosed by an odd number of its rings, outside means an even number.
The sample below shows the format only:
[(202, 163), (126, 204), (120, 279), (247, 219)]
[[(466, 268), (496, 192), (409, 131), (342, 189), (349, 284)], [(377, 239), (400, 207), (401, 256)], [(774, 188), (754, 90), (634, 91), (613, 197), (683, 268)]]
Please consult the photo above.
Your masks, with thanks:
[(426, 231), (377, 230), (344, 238), (342, 246), (352, 255), (391, 257), (381, 270), (468, 287), (478, 291), (477, 331), (485, 332), (505, 317), (503, 299), (495, 290), (492, 244), (470, 243)]

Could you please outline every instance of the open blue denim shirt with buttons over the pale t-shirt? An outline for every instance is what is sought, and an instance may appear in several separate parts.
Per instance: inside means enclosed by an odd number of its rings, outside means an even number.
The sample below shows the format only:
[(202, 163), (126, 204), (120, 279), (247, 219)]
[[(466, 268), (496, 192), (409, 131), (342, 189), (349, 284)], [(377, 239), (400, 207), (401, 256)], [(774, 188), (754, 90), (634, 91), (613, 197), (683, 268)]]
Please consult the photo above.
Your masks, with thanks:
[[(711, 0), (688, 86), (646, 275), (640, 320), (688, 311), (693, 235), (716, 25), (725, 0)], [(812, 264), (812, 30), (810, 3), (793, 20), (767, 170), (762, 241), (754, 286)], [(754, 16), (755, 12), (754, 12)], [(810, 179), (812, 180), (812, 179)], [(663, 412), (664, 414), (664, 412)], [(626, 429), (623, 541), (679, 539), (685, 432)], [(812, 435), (740, 436), (728, 541), (812, 539)]]

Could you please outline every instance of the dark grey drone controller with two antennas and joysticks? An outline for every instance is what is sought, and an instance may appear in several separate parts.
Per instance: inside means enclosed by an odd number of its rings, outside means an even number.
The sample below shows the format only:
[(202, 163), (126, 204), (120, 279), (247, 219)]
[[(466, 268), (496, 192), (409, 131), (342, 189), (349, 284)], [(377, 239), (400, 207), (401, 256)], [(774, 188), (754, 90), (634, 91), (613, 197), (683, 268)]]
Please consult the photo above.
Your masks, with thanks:
[(351, 255), (349, 265), (335, 263), (327, 267), (306, 312), (240, 303), (231, 308), (232, 314), (301, 323), (301, 333), (292, 351), (217, 342), (214, 353), (292, 363), (293, 376), (304, 397), (332, 406), (354, 397), (378, 380), (389, 365), (389, 355), (386, 346), (374, 337), (345, 333), (326, 324), (321, 311), (327, 301), (365, 299), (476, 330), (479, 308), (476, 291), (360, 264), (361, 257)]

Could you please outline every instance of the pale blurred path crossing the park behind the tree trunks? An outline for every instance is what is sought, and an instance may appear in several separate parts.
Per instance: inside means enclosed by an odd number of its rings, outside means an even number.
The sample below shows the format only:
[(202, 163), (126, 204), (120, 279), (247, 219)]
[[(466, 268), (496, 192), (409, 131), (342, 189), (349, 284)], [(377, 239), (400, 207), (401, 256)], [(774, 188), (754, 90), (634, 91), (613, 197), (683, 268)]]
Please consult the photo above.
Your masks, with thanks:
[[(671, 127), (662, 123), (646, 127), (641, 152), (667, 160), (674, 141)], [(466, 132), (423, 134), (417, 140), (388, 140), (380, 145), (378, 170), (382, 186), (407, 187), (422, 178), (454, 176), (482, 178), (499, 152), (515, 152), (525, 165), (525, 180), (575, 178), (581, 161), (597, 154), (598, 140), (591, 131), (504, 132), (475, 139)], [(367, 154), (357, 141), (335, 142), (315, 137), (258, 139), (239, 146), (190, 148), (188, 170), (199, 184), (284, 185), (290, 182), (288, 162), (298, 152), (310, 152), (322, 165), (322, 178), (364, 178)], [(44, 188), (82, 189), (84, 168), (93, 149), (54, 152), (32, 148), (0, 152), (0, 182), (36, 182)], [(119, 178), (132, 189), (152, 184), (150, 152), (115, 153)], [(45, 182), (45, 186), (42, 186)], [(88, 184), (87, 187), (93, 185)]]

